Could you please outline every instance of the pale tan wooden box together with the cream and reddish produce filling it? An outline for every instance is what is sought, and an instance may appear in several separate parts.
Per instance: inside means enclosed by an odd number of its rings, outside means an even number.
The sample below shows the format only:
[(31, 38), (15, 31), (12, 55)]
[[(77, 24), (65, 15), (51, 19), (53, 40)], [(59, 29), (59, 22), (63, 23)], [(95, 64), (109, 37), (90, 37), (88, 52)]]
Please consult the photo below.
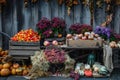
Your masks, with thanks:
[(102, 47), (102, 38), (94, 32), (85, 32), (84, 34), (67, 34), (67, 46), (81, 48)]

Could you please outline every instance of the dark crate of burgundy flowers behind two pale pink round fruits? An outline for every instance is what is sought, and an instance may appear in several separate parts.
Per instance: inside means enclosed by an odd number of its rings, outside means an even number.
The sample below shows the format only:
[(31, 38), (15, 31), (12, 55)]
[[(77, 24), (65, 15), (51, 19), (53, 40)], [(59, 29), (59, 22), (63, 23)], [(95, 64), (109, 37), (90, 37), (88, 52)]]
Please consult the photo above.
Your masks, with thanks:
[(58, 45), (65, 44), (66, 23), (63, 19), (54, 17), (52, 20), (42, 18), (37, 24), (37, 31), (41, 35), (41, 46), (43, 43), (57, 42)]

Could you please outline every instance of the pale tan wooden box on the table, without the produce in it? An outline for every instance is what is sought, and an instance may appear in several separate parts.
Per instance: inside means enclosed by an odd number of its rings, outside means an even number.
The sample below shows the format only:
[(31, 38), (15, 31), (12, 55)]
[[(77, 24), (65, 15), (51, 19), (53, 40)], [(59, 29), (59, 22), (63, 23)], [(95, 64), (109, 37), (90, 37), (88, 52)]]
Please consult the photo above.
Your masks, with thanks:
[(69, 47), (81, 47), (81, 48), (99, 48), (102, 47), (102, 40), (67, 40), (67, 46)]

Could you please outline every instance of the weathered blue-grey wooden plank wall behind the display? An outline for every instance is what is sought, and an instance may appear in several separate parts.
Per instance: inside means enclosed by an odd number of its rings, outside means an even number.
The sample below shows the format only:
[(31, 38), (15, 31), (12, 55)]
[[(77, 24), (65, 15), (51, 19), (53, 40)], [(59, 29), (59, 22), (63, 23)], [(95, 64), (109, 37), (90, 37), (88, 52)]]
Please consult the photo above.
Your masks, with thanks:
[[(79, 0), (81, 1), (81, 0)], [(42, 18), (49, 19), (53, 17), (64, 18), (67, 28), (73, 23), (90, 24), (89, 7), (81, 3), (74, 6), (71, 15), (67, 15), (65, 4), (58, 5), (57, 0), (38, 0), (37, 3), (31, 3), (29, 0), (27, 7), (24, 6), (24, 0), (7, 0), (7, 4), (1, 6), (0, 12), (0, 32), (7, 33), (10, 37), (21, 29), (36, 29), (37, 22)], [(94, 28), (105, 21), (105, 4), (102, 8), (95, 6)], [(114, 17), (110, 26), (115, 32), (120, 33), (120, 6), (115, 6)], [(8, 38), (0, 34), (0, 46), (8, 48)]]

